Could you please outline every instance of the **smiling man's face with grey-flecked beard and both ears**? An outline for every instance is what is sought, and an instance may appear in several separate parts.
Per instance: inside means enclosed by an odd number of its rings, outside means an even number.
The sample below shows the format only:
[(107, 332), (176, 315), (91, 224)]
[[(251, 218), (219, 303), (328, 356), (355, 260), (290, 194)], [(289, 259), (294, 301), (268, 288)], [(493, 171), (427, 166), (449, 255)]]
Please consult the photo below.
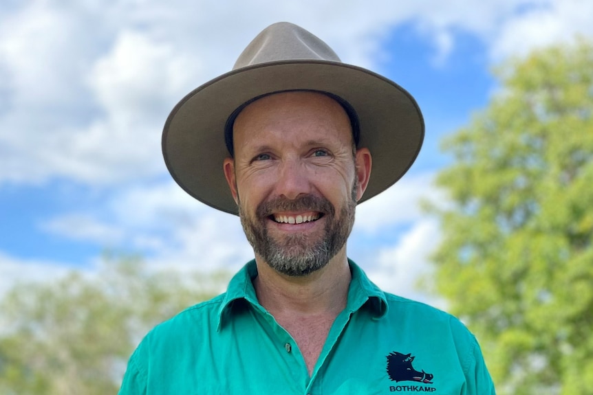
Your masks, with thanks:
[(312, 92), (261, 98), (237, 117), (233, 142), (224, 170), (255, 253), (286, 275), (325, 267), (345, 249), (370, 172), (340, 104)]

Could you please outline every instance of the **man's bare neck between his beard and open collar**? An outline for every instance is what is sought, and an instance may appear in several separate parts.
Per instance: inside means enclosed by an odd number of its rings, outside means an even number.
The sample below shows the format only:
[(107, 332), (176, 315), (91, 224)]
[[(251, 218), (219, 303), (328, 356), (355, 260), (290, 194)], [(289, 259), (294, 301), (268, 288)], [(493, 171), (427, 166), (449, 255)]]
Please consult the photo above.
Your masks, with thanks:
[(274, 317), (336, 317), (346, 306), (351, 279), (345, 247), (322, 269), (302, 277), (279, 273), (256, 256), (255, 292)]

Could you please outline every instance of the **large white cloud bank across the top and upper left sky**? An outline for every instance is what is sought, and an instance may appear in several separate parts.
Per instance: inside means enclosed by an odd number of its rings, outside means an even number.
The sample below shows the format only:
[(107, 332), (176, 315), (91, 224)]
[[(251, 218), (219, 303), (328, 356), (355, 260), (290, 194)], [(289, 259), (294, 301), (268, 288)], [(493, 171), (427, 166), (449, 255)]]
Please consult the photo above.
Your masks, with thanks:
[(382, 41), (400, 23), (434, 43), (438, 62), (459, 31), (504, 58), (592, 35), (592, 7), (579, 0), (23, 3), (0, 17), (0, 74), (8, 77), (0, 87), (0, 182), (120, 185), (162, 174), (166, 114), (228, 71), (274, 21), (299, 23), (346, 62), (372, 68), (388, 56)]

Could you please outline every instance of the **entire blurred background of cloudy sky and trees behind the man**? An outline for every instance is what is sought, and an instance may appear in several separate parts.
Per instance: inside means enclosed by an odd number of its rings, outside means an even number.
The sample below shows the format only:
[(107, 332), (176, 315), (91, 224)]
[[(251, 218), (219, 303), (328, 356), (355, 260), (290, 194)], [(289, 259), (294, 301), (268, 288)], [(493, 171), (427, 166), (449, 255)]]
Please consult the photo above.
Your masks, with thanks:
[[(154, 324), (252, 258), (162, 126), (277, 21), (397, 82), (427, 134), (349, 256), (458, 315), (500, 394), (593, 394), (593, 2), (0, 4), (0, 394), (116, 392)], [(347, 83), (347, 82), (345, 82)]]

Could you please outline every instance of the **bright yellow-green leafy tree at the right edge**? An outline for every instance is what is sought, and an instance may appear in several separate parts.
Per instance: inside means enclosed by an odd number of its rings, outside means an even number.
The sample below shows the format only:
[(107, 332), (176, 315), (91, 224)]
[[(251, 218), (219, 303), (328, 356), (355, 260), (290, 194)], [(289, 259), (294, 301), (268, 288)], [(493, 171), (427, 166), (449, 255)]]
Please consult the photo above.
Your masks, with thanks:
[(475, 332), (500, 394), (593, 394), (593, 45), (499, 69), (446, 138), (431, 208), (435, 289)]

